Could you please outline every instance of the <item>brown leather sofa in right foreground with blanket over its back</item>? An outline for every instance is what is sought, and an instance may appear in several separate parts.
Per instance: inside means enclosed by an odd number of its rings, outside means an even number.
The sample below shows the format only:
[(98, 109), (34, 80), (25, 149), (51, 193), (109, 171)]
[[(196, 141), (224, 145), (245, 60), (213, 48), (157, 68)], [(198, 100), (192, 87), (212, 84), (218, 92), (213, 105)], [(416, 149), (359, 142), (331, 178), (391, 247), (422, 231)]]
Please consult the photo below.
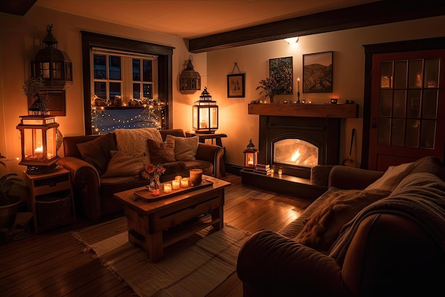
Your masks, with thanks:
[[(385, 187), (384, 173), (333, 166), (326, 193), (360, 189), (363, 194), (373, 183)], [(301, 238), (311, 240), (300, 236), (323, 199), (332, 199), (326, 193), (284, 229), (253, 234), (237, 259), (244, 296), (436, 296), (443, 291), (444, 167), (426, 157), (414, 162), (409, 174), (391, 178), (401, 180), (387, 197), (352, 216), (328, 249), (302, 244)], [(331, 220), (325, 227), (333, 226)]]

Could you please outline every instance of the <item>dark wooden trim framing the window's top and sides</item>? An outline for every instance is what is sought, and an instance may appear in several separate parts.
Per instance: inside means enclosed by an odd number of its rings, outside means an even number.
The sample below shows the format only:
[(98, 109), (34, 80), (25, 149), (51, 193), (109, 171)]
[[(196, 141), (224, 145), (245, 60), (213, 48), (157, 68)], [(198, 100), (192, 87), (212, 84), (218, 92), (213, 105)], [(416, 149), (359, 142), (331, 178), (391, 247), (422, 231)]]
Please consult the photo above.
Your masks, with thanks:
[(91, 128), (91, 73), (90, 48), (92, 46), (111, 48), (122, 51), (133, 51), (158, 56), (159, 98), (166, 102), (166, 129), (173, 127), (173, 47), (135, 41), (127, 38), (107, 36), (99, 33), (80, 31), (82, 33), (82, 69), (83, 69), (83, 105), (85, 113), (85, 135), (92, 134)]

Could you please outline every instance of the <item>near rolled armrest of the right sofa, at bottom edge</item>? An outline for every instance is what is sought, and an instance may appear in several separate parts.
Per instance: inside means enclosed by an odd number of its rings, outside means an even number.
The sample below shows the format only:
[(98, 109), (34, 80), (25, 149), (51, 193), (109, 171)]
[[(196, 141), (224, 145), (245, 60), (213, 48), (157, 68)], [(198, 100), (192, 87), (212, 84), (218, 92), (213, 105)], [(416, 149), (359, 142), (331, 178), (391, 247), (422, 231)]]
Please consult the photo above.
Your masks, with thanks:
[(350, 296), (335, 259), (274, 231), (247, 239), (237, 275), (245, 296)]

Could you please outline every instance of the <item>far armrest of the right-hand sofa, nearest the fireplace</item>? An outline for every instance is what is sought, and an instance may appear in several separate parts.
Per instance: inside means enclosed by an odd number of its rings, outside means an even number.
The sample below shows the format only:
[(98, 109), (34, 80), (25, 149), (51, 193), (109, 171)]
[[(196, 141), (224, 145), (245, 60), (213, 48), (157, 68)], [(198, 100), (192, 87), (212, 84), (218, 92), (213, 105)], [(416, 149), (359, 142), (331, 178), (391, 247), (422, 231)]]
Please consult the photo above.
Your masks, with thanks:
[(365, 189), (385, 172), (336, 165), (329, 173), (328, 187), (338, 189)]

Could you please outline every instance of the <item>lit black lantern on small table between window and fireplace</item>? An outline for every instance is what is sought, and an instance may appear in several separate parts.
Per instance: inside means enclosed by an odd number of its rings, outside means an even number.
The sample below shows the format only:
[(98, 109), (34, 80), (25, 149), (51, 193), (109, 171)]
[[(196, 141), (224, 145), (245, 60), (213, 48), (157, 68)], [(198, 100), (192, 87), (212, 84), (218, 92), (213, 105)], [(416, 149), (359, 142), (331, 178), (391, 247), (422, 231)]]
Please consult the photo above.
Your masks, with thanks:
[(218, 105), (212, 100), (207, 87), (193, 105), (193, 130), (199, 133), (215, 133), (218, 130)]

